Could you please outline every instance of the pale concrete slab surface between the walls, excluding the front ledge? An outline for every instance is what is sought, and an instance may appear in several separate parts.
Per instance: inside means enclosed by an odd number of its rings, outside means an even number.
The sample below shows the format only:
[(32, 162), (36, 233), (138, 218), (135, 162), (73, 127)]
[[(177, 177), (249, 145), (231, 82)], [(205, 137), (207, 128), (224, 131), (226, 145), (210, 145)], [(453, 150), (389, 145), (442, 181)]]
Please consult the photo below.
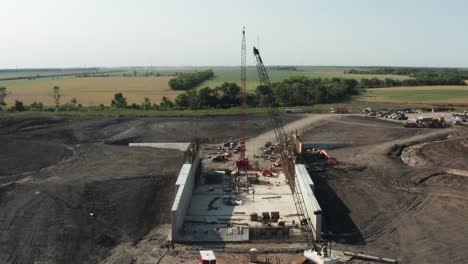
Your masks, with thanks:
[[(250, 221), (251, 213), (261, 216), (262, 212), (280, 212), (280, 217), (289, 225), (293, 220), (298, 222), (293, 195), (283, 174), (277, 177), (260, 176), (259, 184), (241, 188), (239, 193), (233, 192), (229, 184), (234, 180), (230, 181), (229, 177), (235, 176), (219, 174), (219, 177), (223, 178), (221, 184), (201, 183), (196, 187), (185, 217), (186, 224), (192, 222), (262, 226), (258, 221)], [(230, 205), (231, 202), (238, 204)]]

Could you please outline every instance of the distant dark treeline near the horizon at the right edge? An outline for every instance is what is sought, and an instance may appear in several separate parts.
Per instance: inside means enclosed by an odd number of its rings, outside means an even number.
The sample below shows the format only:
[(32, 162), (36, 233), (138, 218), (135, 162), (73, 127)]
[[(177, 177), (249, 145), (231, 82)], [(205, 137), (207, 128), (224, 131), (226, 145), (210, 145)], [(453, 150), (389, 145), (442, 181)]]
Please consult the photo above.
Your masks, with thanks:
[(412, 79), (394, 80), (377, 78), (365, 81), (363, 87), (388, 87), (388, 86), (422, 86), (422, 85), (466, 85), (468, 70), (450, 68), (377, 68), (377, 69), (351, 69), (345, 74), (393, 74), (406, 75)]

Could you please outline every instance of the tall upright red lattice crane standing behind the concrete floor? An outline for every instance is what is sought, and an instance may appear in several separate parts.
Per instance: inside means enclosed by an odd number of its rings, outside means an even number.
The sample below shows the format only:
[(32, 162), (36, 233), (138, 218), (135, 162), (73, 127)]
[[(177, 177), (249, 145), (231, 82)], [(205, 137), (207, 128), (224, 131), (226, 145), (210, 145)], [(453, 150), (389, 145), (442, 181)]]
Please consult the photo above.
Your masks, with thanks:
[(241, 90), (240, 90), (240, 157), (236, 161), (236, 166), (239, 170), (246, 170), (249, 167), (249, 159), (245, 157), (245, 119), (247, 112), (247, 102), (245, 100), (245, 83), (247, 70), (247, 55), (245, 47), (245, 28), (242, 29), (242, 46), (241, 46)]

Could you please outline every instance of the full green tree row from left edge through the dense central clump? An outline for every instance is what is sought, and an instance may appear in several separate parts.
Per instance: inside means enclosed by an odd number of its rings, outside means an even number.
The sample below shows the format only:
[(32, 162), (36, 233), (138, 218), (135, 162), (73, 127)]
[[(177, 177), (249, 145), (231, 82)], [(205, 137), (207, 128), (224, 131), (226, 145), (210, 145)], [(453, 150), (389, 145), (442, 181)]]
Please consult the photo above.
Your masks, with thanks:
[[(273, 103), (276, 106), (313, 105), (322, 103), (342, 102), (359, 94), (360, 83), (355, 79), (321, 79), (308, 77), (291, 77), (281, 82), (275, 82), (272, 87), (258, 86), (254, 92), (246, 95), (249, 107), (265, 107)], [(8, 91), (0, 88), (0, 110), (2, 108), (15, 111), (98, 111), (106, 109), (141, 109), (141, 110), (167, 110), (167, 109), (222, 109), (240, 106), (241, 91), (237, 83), (225, 82), (214, 88), (203, 87), (187, 90), (179, 94), (174, 101), (163, 97), (161, 102), (152, 103), (144, 98), (141, 104), (127, 103), (123, 93), (116, 93), (110, 106), (83, 106), (78, 100), (61, 103), (59, 87), (54, 87), (55, 105), (45, 106), (41, 102), (24, 105), (16, 101), (9, 108), (4, 108)], [(3, 94), (3, 96), (2, 96)]]

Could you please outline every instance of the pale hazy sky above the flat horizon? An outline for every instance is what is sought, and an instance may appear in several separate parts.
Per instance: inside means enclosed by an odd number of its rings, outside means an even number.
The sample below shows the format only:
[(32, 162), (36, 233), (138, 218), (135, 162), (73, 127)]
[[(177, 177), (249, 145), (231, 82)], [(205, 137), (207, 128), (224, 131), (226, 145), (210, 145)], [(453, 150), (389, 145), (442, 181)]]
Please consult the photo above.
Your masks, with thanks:
[(3, 0), (0, 68), (468, 67), (465, 0)]

